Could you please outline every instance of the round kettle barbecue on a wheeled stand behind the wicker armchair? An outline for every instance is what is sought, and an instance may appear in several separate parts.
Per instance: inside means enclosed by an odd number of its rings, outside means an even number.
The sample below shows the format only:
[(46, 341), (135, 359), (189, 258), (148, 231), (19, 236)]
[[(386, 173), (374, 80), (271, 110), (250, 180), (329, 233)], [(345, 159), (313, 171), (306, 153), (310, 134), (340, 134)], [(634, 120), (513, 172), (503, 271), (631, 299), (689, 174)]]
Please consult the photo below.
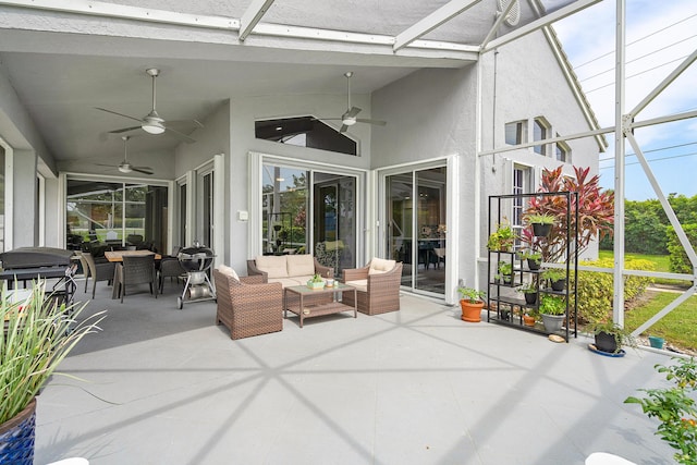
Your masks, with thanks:
[(176, 297), (176, 308), (184, 307), (184, 301), (200, 302), (216, 299), (216, 291), (208, 278), (208, 269), (213, 264), (213, 250), (195, 243), (193, 247), (180, 250), (178, 258), (186, 270), (186, 284), (180, 297)]

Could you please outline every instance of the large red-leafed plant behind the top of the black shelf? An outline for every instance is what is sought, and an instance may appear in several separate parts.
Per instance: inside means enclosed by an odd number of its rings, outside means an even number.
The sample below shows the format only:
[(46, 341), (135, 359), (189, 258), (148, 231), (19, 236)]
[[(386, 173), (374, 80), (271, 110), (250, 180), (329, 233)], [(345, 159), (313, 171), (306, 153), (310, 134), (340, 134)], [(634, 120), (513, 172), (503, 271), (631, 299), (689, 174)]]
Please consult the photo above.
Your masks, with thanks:
[[(580, 254), (591, 241), (611, 235), (614, 224), (614, 193), (601, 191), (600, 178), (588, 178), (590, 168), (574, 167), (576, 178), (562, 174), (562, 167), (543, 170), (538, 192), (577, 192), (578, 193), (578, 240), (576, 246)], [(571, 231), (576, 229), (575, 205), (571, 204)], [(557, 262), (566, 254), (566, 210), (565, 196), (531, 197), (525, 215), (551, 215), (554, 217), (552, 231), (545, 241), (538, 241), (530, 227), (525, 228), (522, 241), (542, 254), (542, 261)], [(573, 250), (573, 244), (572, 244)]]

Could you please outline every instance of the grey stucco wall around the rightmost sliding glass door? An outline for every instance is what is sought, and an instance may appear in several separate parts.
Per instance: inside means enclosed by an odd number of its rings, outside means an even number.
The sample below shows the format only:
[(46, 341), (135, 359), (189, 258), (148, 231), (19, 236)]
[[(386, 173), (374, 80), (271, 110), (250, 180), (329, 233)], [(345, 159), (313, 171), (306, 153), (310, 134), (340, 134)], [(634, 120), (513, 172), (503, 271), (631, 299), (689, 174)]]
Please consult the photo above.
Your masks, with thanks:
[[(458, 158), (458, 212), (449, 218), (449, 241), (457, 241), (453, 282), (474, 282), (477, 250), (474, 237), (476, 184), (476, 68), (420, 70), (372, 95), (375, 118), (388, 121), (386, 131), (372, 135), (372, 164), (394, 164), (456, 155)], [(374, 206), (380, 209), (376, 198)], [(455, 221), (456, 228), (455, 227)], [(452, 253), (452, 247), (451, 247)]]

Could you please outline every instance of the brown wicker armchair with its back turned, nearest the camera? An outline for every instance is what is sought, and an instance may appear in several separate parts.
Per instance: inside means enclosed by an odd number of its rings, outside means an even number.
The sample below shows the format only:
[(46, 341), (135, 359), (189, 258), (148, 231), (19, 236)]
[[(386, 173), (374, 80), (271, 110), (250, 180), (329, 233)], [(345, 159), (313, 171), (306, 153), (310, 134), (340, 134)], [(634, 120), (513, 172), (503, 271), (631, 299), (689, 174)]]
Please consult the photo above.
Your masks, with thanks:
[(213, 270), (218, 310), (216, 325), (224, 325), (231, 339), (283, 330), (283, 287), (264, 276), (241, 277)]

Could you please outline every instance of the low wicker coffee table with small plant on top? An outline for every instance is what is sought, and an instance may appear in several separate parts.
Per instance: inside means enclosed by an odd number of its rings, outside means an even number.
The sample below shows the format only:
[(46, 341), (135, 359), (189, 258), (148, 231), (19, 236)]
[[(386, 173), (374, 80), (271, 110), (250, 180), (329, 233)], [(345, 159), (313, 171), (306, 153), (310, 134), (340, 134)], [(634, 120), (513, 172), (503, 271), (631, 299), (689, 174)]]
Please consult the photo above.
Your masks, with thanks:
[[(292, 285), (283, 289), (283, 316), (288, 317), (288, 311), (292, 311), (295, 315), (301, 317), (301, 328), (303, 328), (303, 320), (305, 318), (313, 317), (321, 317), (322, 315), (332, 315), (339, 314), (341, 311), (353, 310), (353, 317), (356, 318), (358, 316), (358, 308), (356, 305), (346, 305), (337, 301), (337, 296), (340, 293), (351, 292), (353, 293), (353, 302), (356, 302), (356, 289), (342, 284), (335, 283), (331, 287), (323, 289), (309, 289), (306, 285)], [(297, 298), (289, 298), (289, 294), (293, 294), (291, 297)], [(310, 304), (305, 305), (305, 298), (308, 296), (316, 296), (321, 294), (332, 294), (332, 299), (329, 303), (323, 304)], [(293, 301), (293, 302), (291, 302)], [(311, 302), (313, 299), (310, 299)]]

